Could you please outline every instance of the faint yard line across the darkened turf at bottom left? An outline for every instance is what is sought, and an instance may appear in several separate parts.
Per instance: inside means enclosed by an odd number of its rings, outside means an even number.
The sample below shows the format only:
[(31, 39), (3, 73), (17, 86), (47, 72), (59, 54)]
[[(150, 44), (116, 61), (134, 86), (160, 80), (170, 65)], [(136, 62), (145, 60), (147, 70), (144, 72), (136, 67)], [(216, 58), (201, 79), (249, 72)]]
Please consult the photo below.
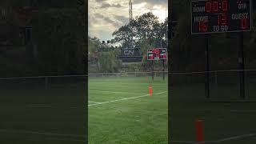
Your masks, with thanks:
[(0, 130), (0, 132), (6, 133), (25, 133), (25, 134), (44, 134), (44, 135), (55, 135), (55, 136), (66, 136), (66, 137), (76, 137), (76, 138), (84, 138), (83, 135), (78, 134), (56, 134), (56, 133), (46, 133), (46, 132), (38, 132), (38, 131), (29, 131), (29, 130)]

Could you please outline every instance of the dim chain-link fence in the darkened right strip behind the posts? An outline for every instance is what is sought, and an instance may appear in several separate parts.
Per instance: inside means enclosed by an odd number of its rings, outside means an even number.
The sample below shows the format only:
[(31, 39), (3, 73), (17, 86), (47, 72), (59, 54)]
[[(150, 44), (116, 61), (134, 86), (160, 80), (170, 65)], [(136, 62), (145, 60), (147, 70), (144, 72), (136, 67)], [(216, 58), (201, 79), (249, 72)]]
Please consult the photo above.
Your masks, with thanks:
[[(241, 74), (244, 73), (244, 94), (241, 96)], [(207, 98), (207, 74), (209, 75), (209, 99), (216, 101), (256, 100), (256, 70), (214, 70), (209, 72), (170, 73), (172, 86), (195, 90), (200, 99)], [(188, 92), (190, 93), (190, 92)], [(192, 93), (193, 94), (193, 93)]]

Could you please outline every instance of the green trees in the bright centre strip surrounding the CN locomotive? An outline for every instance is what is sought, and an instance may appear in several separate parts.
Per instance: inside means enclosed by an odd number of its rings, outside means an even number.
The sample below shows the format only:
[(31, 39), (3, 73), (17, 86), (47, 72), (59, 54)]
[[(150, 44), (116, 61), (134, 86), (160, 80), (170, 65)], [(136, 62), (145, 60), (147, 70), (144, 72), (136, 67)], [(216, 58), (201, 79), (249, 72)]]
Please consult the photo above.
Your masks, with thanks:
[[(150, 63), (147, 62), (146, 52), (154, 47), (167, 46), (167, 19), (164, 22), (159, 22), (158, 17), (151, 12), (135, 17), (131, 22), (114, 30), (111, 41), (115, 44), (120, 44), (118, 48), (109, 46), (102, 48), (98, 38), (88, 38), (90, 60), (95, 60), (94, 51), (99, 51), (98, 55), (98, 71), (99, 72), (119, 72), (122, 71), (122, 62), (118, 59), (118, 55), (123, 48), (138, 47), (142, 53), (142, 62), (130, 65), (126, 71), (144, 71), (150, 68)], [(96, 61), (94, 61), (96, 62)], [(167, 62), (166, 62), (167, 63)], [(161, 62), (155, 62), (155, 66), (161, 67)], [(90, 67), (89, 67), (90, 69)]]

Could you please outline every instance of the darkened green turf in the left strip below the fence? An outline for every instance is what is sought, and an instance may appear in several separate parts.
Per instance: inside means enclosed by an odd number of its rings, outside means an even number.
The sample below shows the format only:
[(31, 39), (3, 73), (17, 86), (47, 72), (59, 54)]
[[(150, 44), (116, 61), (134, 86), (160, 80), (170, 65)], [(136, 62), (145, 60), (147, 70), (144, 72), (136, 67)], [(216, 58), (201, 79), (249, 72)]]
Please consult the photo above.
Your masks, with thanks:
[(84, 87), (1, 90), (1, 144), (84, 143)]

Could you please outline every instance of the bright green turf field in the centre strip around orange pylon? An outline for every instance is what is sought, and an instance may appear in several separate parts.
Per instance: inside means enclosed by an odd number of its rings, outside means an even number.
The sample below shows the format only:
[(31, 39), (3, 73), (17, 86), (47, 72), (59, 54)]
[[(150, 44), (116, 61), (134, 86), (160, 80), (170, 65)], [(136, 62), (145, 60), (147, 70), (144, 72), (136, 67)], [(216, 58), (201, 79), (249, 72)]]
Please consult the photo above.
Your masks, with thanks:
[(89, 78), (89, 143), (166, 144), (167, 78)]

